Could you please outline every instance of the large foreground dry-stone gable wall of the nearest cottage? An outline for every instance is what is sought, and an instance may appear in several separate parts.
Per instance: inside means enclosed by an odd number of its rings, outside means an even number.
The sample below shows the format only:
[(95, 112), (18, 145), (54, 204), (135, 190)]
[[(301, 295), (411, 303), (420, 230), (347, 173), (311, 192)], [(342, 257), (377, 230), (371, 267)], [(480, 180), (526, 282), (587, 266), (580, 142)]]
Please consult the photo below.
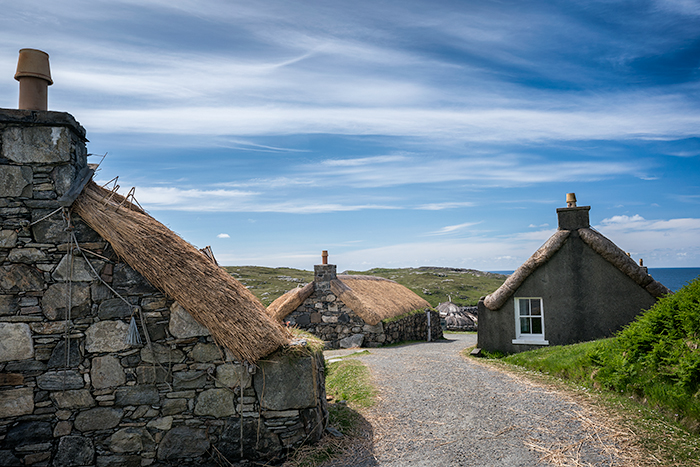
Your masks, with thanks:
[[(235, 361), (61, 211), (84, 136), (68, 114), (0, 110), (0, 465), (273, 460), (320, 438), (322, 355)], [(152, 346), (127, 343), (132, 315)]]

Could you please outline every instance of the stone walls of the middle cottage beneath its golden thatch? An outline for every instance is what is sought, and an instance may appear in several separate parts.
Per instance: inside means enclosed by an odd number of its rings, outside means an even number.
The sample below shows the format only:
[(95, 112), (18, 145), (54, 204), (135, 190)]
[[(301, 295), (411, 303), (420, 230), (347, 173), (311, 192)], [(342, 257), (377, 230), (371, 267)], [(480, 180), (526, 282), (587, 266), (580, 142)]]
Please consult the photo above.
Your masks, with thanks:
[[(440, 315), (431, 314), (432, 340), (442, 338)], [(326, 348), (379, 347), (409, 340), (427, 340), (425, 312), (408, 314), (389, 323), (374, 326), (365, 323), (330, 290), (315, 290), (304, 303), (290, 313), (285, 322), (323, 339)]]

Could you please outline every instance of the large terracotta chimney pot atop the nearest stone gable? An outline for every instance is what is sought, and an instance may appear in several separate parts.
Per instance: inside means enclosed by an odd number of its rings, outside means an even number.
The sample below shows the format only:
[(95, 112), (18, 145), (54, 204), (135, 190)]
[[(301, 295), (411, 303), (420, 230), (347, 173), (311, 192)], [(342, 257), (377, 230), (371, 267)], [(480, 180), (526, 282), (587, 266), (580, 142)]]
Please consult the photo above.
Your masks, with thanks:
[(36, 49), (21, 49), (15, 79), (19, 81), (20, 110), (48, 110), (48, 87), (53, 84), (49, 54)]

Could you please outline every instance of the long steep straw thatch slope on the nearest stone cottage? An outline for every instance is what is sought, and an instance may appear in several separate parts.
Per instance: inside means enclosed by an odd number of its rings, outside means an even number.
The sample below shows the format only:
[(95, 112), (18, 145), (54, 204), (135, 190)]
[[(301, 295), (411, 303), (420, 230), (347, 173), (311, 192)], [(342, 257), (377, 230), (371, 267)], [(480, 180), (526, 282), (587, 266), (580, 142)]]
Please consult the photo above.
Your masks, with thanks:
[(289, 342), (287, 331), (240, 282), (122, 196), (90, 182), (73, 211), (236, 358), (253, 363)]

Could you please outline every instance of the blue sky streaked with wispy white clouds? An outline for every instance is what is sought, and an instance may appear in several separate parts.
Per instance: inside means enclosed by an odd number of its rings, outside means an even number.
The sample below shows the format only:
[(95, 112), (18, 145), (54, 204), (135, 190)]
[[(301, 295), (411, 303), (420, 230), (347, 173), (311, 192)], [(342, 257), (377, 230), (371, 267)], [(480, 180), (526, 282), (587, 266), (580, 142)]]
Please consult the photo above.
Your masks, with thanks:
[[(1, 2), (98, 180), (224, 265), (514, 269), (575, 192), (700, 266), (700, 2)], [(92, 157), (99, 162), (101, 157)]]

